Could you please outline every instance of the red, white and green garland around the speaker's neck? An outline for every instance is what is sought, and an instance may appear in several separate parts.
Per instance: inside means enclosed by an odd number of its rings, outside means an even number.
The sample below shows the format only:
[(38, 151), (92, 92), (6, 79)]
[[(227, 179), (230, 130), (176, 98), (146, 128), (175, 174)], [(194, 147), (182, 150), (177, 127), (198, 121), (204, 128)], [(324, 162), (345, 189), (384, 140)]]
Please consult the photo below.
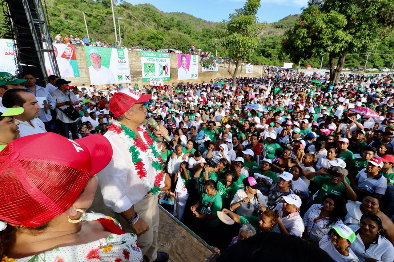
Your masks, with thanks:
[[(129, 147), (128, 151), (131, 154), (134, 168), (137, 170), (139, 179), (141, 179), (146, 188), (151, 190), (152, 194), (156, 195), (160, 189), (159, 186), (163, 179), (164, 172), (164, 162), (162, 161), (162, 157), (153, 145), (153, 142), (157, 142), (157, 138), (153, 135), (151, 130), (146, 129), (143, 131), (143, 136), (147, 142), (147, 144), (145, 144), (143, 140), (134, 133), (134, 131), (116, 120), (111, 121), (111, 125), (108, 129), (117, 133), (122, 138), (123, 142)], [(152, 162), (153, 168), (158, 170), (154, 181), (147, 177), (147, 170), (142, 159), (139, 158), (139, 151), (146, 153), (148, 159)]]

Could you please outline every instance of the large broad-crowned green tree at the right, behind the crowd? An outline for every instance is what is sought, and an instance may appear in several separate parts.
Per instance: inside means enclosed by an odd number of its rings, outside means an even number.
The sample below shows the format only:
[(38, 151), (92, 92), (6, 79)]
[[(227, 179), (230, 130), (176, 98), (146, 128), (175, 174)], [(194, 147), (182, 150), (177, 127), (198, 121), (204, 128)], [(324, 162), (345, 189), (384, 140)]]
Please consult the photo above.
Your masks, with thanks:
[(393, 26), (393, 10), (392, 0), (310, 0), (286, 31), (283, 47), (295, 62), (328, 55), (330, 80), (336, 83), (347, 54), (374, 50), (380, 44)]

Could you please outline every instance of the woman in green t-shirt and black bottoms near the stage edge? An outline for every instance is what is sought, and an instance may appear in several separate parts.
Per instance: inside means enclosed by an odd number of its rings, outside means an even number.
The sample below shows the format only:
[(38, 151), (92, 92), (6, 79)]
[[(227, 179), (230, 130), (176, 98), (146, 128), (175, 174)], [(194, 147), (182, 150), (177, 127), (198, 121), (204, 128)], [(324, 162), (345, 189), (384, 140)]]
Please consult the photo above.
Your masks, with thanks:
[[(205, 192), (195, 205), (190, 207), (191, 213), (198, 218), (196, 231), (208, 244), (217, 246), (220, 234), (217, 234), (220, 220), (217, 211), (223, 205), (222, 198), (216, 189), (216, 182), (209, 179), (205, 183)], [(197, 211), (198, 210), (198, 211)], [(212, 231), (214, 230), (214, 231)], [(212, 234), (212, 232), (215, 232)]]

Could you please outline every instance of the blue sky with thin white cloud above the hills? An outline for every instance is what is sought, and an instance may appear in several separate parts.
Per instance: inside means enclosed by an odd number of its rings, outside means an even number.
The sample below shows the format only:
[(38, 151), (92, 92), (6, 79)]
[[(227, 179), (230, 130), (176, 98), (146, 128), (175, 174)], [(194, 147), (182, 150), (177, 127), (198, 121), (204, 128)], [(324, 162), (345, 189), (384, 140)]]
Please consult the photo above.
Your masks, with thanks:
[[(130, 4), (152, 4), (157, 9), (168, 12), (184, 12), (195, 17), (221, 22), (227, 19), (236, 8), (243, 7), (245, 0), (126, 0)], [(288, 15), (301, 13), (308, 0), (261, 0), (257, 12), (259, 22), (276, 22)], [(210, 11), (212, 10), (212, 11)]]

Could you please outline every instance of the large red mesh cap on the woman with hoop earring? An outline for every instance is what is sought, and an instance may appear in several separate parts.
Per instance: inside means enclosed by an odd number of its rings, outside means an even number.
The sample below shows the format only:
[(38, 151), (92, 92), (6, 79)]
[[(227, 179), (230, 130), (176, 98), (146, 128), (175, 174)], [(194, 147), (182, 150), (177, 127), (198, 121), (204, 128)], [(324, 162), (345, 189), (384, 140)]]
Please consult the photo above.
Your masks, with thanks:
[(102, 135), (72, 141), (41, 133), (13, 140), (0, 151), (0, 219), (23, 227), (52, 220), (111, 158), (112, 146)]

